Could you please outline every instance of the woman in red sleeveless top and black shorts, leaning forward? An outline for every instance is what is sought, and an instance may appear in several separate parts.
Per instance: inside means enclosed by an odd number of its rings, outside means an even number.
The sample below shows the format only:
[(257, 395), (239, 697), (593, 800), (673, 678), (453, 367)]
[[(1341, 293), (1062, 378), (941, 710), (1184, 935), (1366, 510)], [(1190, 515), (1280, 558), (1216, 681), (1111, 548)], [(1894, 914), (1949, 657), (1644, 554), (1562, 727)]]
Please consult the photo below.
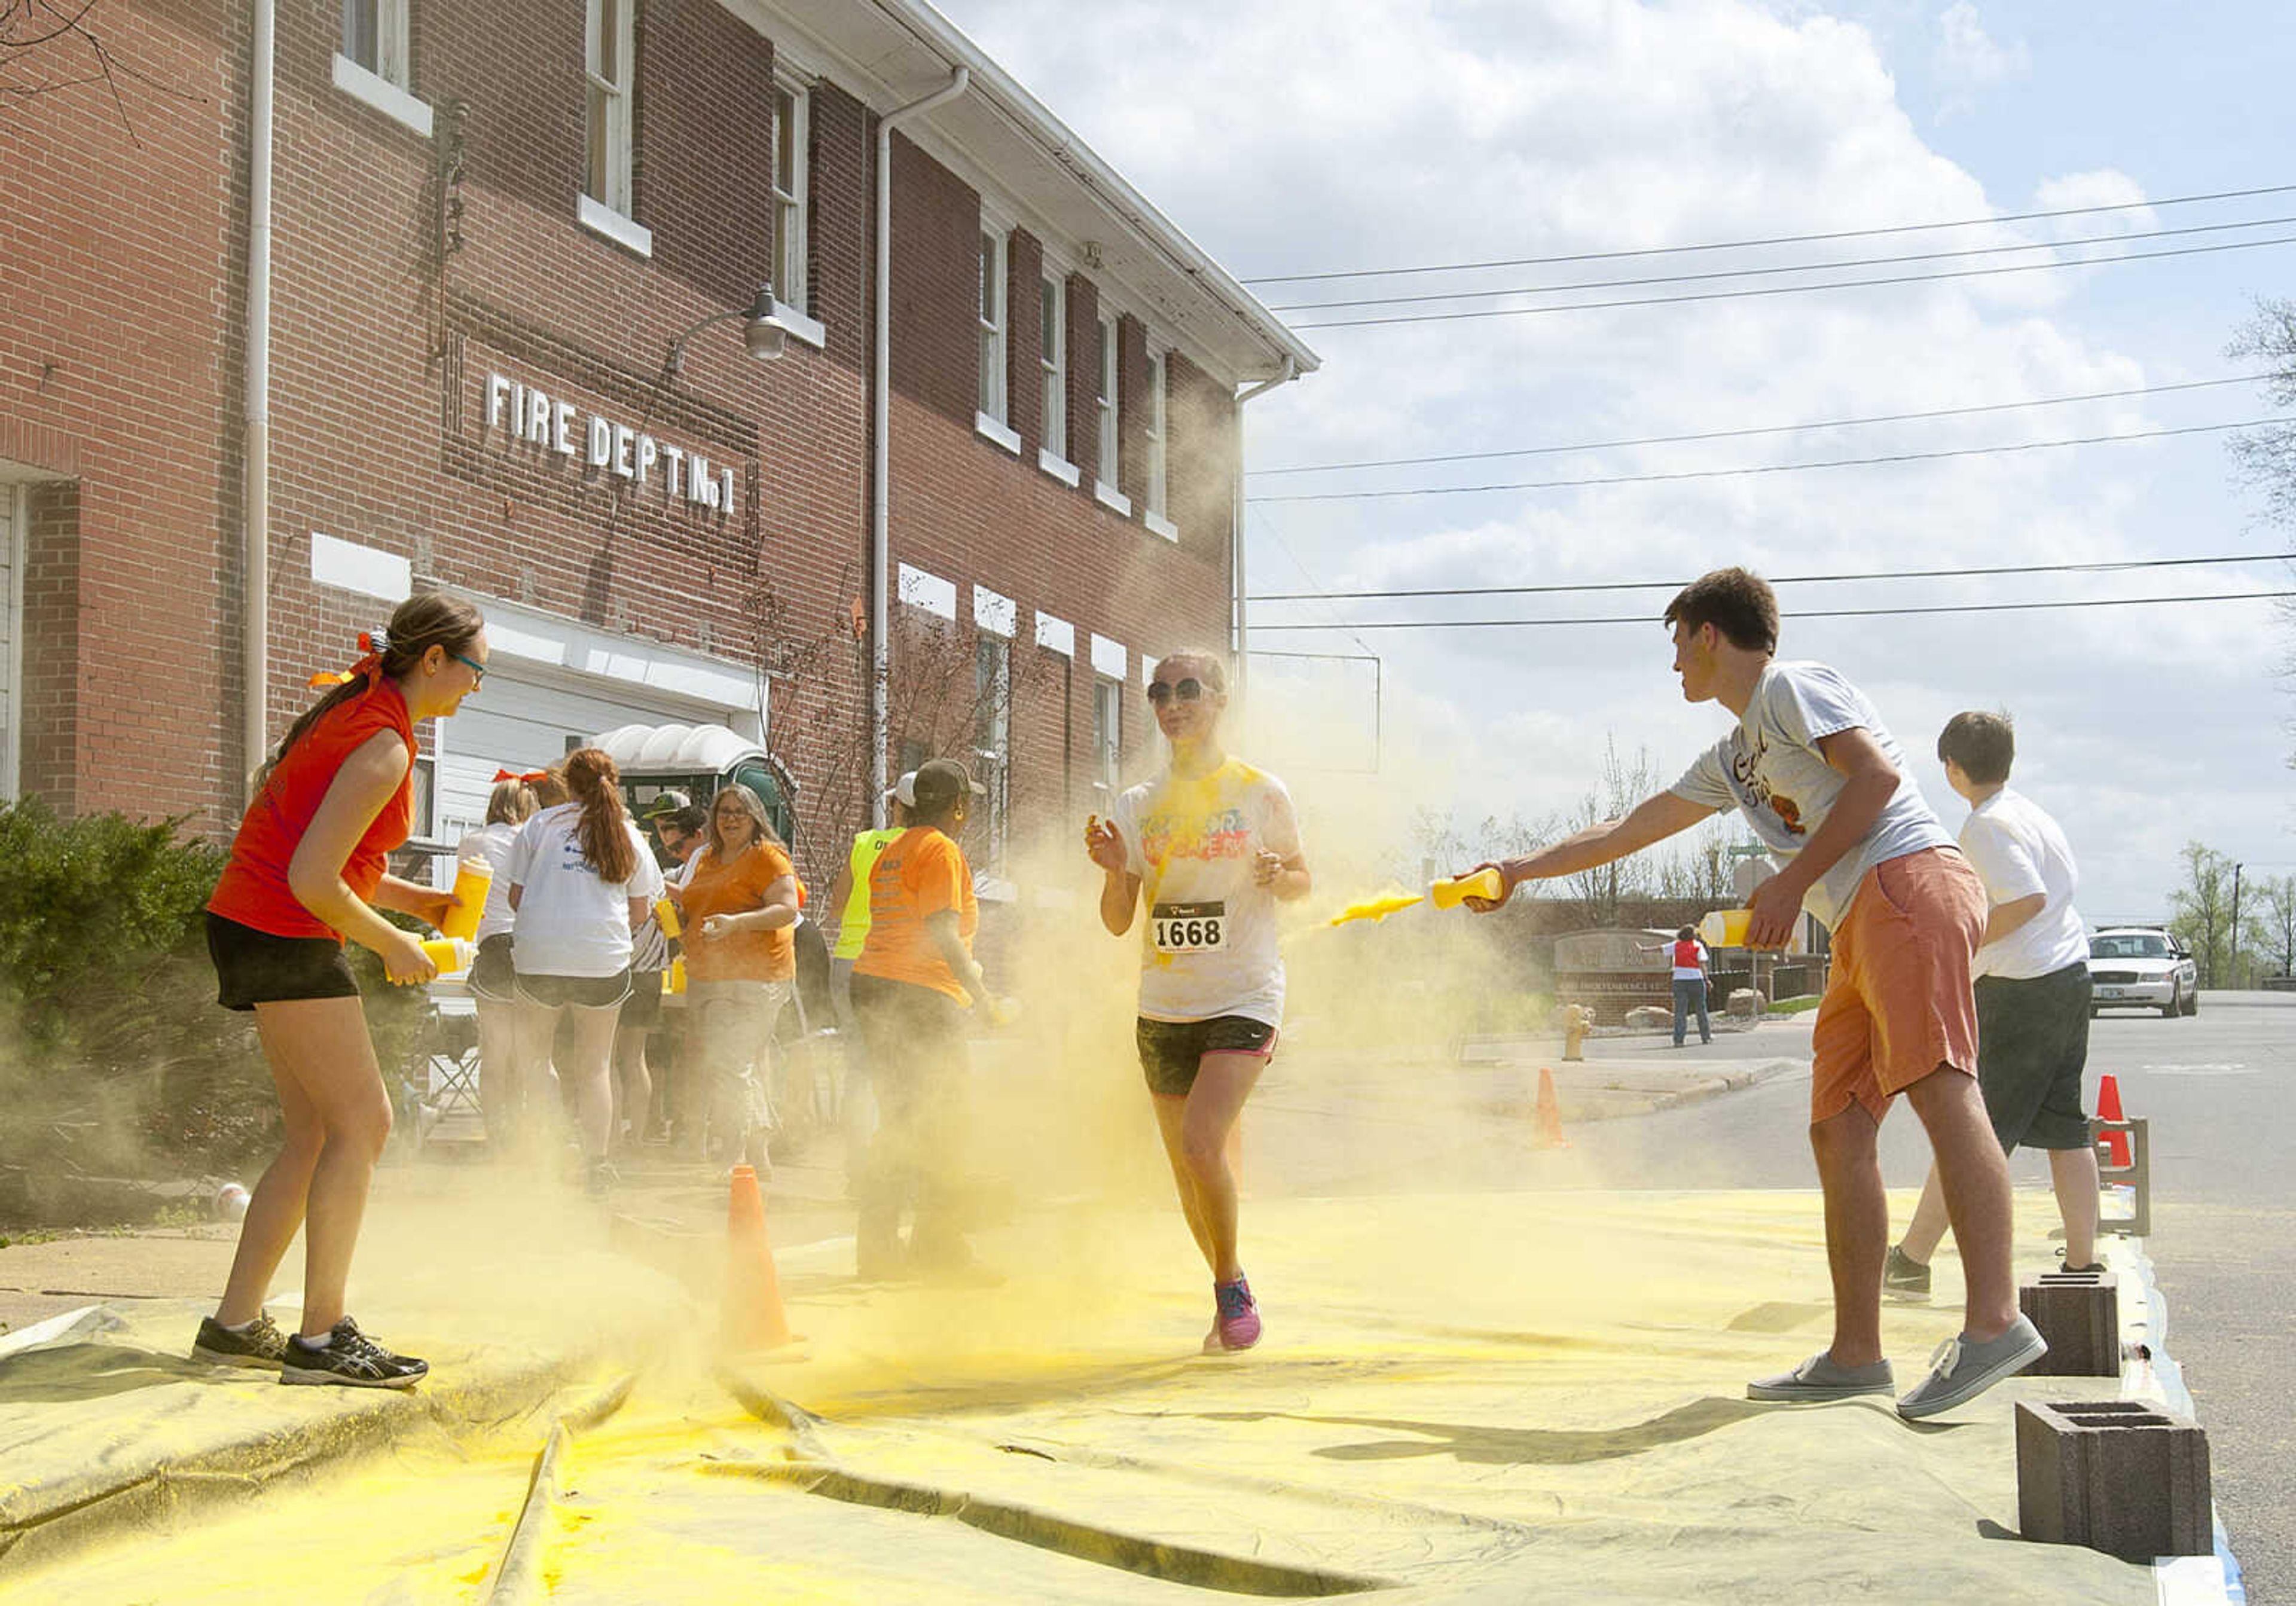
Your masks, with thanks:
[[(367, 1183), (390, 1137), (390, 1096), (344, 963), (349, 937), (393, 986), (439, 974), (377, 910), (436, 926), (452, 894), (386, 875), (413, 829), (416, 724), (452, 715), (487, 678), (487, 620), (445, 595), (409, 597), (383, 641), (289, 726), (255, 774), (232, 859), (207, 903), (218, 999), (255, 1013), (287, 1137), (255, 1183), (239, 1252), (191, 1353), (278, 1367), (282, 1383), (406, 1388), (429, 1367), (393, 1356), (342, 1310)], [(303, 1326), (264, 1314), (271, 1275), (303, 1231)]]

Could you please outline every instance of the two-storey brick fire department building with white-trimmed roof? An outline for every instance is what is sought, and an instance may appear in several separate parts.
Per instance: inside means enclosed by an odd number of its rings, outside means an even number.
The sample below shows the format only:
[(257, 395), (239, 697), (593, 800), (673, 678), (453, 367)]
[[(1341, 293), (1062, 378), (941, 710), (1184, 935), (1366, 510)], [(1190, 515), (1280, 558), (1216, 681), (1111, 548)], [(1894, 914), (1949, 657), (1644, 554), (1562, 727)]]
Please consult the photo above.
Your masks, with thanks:
[(117, 101), (0, 113), (0, 790), (227, 832), (308, 678), (448, 588), (494, 673), (427, 841), (569, 735), (716, 721), (813, 875), (925, 751), (994, 859), (1231, 641), (1240, 393), (1316, 356), (921, 0), (101, 23)]

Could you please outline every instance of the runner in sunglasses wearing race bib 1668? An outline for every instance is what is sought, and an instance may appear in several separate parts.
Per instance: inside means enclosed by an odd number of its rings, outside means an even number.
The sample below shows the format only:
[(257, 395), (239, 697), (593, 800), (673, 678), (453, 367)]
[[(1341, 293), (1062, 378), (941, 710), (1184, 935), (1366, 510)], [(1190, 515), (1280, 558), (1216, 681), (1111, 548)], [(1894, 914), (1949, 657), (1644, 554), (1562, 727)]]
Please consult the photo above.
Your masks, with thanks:
[(1212, 1268), (1208, 1353), (1251, 1349), (1261, 1312), (1235, 1254), (1240, 1119), (1283, 1025), (1277, 901), (1309, 894), (1283, 781), (1219, 747), (1226, 669), (1173, 653), (1148, 682), (1171, 765), (1084, 827), (1100, 921), (1141, 926), (1137, 1041), (1180, 1209)]

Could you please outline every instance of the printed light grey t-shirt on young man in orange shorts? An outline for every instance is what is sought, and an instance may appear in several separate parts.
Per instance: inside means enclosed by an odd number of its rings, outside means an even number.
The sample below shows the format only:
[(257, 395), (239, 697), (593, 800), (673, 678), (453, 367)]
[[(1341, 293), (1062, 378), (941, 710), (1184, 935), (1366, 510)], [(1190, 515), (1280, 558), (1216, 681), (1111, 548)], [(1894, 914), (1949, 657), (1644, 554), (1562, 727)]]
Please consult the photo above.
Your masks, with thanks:
[(1864, 692), (1825, 664), (1773, 662), (1754, 682), (1738, 728), (1699, 754), (1671, 788), (1676, 797), (1708, 809), (1738, 809), (1763, 846), (1791, 862), (1848, 786), (1848, 777), (1825, 763), (1818, 740), (1851, 728), (1874, 738), (1899, 779), (1867, 834), (1802, 898), (1828, 931), (1839, 931), (1857, 882), (1876, 864), (1954, 846)]

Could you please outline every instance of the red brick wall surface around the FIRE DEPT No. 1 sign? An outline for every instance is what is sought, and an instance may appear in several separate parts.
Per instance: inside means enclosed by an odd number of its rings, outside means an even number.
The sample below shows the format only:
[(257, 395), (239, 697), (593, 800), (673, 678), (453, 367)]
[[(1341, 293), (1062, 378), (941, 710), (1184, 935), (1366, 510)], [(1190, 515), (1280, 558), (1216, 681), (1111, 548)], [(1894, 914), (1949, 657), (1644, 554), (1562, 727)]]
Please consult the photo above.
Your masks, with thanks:
[[(776, 675), (771, 742), (822, 788), (866, 744), (850, 620), (868, 600), (868, 356), (875, 122), (836, 83), (810, 106), (810, 312), (827, 349), (774, 365), (737, 324), (670, 340), (767, 278), (771, 44), (700, 0), (650, 0), (638, 46), (636, 200), (652, 260), (576, 223), (585, 175), (581, 7), (416, 5), (413, 90), (464, 101), (461, 250), (434, 239), (434, 149), (331, 83), (338, 11), (278, 16), (271, 437), (273, 738), (386, 604), (315, 586), (310, 535), (404, 556), (464, 586)], [(34, 496), (25, 777), (64, 806), (191, 811), (230, 829), (239, 797), (239, 409), (246, 250), (246, 14), (230, 0), (108, 7), (108, 44), (188, 99), (135, 96), (135, 140), (94, 87), (9, 113), (0, 209), (0, 455), (78, 476)], [(101, 175), (101, 177), (92, 177)], [(1127, 648), (1226, 630), (1231, 462), (1221, 386), (1173, 361), (1178, 545), (1091, 494), (1091, 276), (1070, 280), (1070, 420), (1084, 469), (1035, 464), (1042, 248), (1010, 246), (1015, 457), (974, 430), (976, 241), (969, 184), (893, 140), (893, 551), (1022, 609), (1015, 712), (1022, 823), (1086, 795), (1088, 636)], [(664, 508), (613, 476), (512, 450), (484, 425), (501, 370), (585, 411), (732, 464), (742, 508)], [(1125, 324), (1125, 489), (1146, 501), (1146, 345)], [(1201, 460), (1201, 462), (1192, 462)], [(1077, 627), (1077, 664), (1033, 643)], [(37, 643), (37, 648), (34, 648)], [(163, 673), (170, 698), (154, 701)], [(1137, 666), (1127, 678), (1137, 687)], [(1137, 692), (1127, 749), (1146, 740)], [(1075, 777), (1063, 767), (1072, 756)], [(827, 797), (822, 797), (827, 804)], [(815, 846), (827, 820), (815, 820)], [(822, 875), (827, 864), (808, 864)]]

